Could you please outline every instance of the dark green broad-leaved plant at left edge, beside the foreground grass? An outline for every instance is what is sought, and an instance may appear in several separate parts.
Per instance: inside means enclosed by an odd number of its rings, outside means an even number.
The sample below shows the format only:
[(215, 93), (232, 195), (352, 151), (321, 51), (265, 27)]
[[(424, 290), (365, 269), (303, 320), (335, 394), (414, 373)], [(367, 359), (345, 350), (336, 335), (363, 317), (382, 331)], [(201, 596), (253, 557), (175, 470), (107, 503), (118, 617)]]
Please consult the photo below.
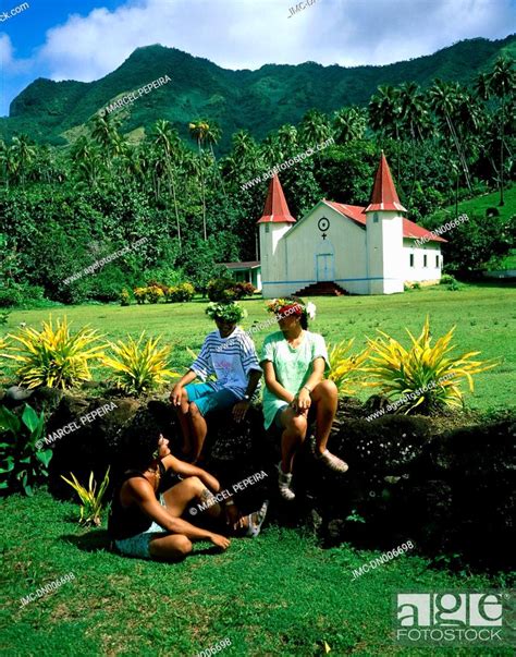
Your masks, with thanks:
[[(39, 449), (45, 434), (44, 413), (28, 404), (17, 417), (0, 406), (0, 489), (4, 492), (33, 494), (33, 486), (48, 477), (52, 450)], [(7, 435), (7, 436), (5, 436)]]

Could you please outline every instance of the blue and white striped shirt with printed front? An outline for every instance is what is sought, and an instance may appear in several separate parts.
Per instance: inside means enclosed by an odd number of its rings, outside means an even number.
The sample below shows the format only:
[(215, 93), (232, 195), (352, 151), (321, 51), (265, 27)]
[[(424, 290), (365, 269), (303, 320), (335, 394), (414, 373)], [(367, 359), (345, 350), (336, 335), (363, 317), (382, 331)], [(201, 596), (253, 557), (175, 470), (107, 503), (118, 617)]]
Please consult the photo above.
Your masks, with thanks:
[(219, 330), (209, 333), (191, 369), (202, 380), (214, 374), (216, 390), (225, 388), (238, 397), (245, 394), (249, 372), (261, 372), (255, 343), (239, 326), (228, 338), (221, 338)]

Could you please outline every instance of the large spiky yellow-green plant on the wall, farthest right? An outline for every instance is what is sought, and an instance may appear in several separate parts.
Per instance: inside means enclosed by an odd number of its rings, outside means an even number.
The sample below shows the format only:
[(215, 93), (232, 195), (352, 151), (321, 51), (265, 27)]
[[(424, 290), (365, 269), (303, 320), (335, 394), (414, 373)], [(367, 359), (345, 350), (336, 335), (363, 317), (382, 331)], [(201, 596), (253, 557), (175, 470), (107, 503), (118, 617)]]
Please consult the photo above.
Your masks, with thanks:
[(411, 341), (410, 349), (405, 349), (383, 331), (378, 331), (381, 337), (377, 340), (368, 339), (372, 366), (365, 368), (373, 379), (367, 385), (380, 387), (386, 397), (401, 396), (403, 403), (400, 409), (405, 413), (417, 406), (425, 411), (443, 405), (460, 406), (462, 382), (467, 380), (472, 392), (472, 376), (499, 364), (474, 361), (472, 357), (480, 353), (478, 351), (452, 355), (455, 327), (438, 338), (433, 345), (428, 317), (418, 338), (406, 330)]

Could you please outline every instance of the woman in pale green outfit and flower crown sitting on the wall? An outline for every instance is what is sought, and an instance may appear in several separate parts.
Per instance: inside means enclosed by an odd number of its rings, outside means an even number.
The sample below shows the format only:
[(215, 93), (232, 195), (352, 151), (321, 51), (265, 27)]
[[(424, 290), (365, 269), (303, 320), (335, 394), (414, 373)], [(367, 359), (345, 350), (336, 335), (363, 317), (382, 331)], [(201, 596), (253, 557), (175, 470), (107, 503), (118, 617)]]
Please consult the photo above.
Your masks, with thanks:
[(315, 318), (316, 306), (295, 296), (275, 299), (268, 311), (278, 317), (280, 331), (263, 342), (261, 366), (266, 379), (263, 391), (265, 426), (283, 429), (282, 459), (279, 469), (280, 494), (293, 500), (292, 469), (296, 451), (304, 442), (309, 425), (308, 413), (315, 413), (315, 453), (318, 461), (340, 473), (347, 463), (327, 449), (335, 417), (337, 390), (324, 379), (328, 352), (324, 339), (308, 330), (308, 317)]

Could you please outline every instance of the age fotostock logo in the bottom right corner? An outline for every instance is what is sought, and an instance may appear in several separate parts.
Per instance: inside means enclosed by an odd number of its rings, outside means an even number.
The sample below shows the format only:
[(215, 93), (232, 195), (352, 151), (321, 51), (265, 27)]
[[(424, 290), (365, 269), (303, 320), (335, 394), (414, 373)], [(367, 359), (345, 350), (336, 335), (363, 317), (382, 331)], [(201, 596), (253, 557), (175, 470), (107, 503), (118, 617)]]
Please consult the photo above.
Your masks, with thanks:
[(405, 645), (516, 645), (514, 591), (398, 593), (394, 637)]

